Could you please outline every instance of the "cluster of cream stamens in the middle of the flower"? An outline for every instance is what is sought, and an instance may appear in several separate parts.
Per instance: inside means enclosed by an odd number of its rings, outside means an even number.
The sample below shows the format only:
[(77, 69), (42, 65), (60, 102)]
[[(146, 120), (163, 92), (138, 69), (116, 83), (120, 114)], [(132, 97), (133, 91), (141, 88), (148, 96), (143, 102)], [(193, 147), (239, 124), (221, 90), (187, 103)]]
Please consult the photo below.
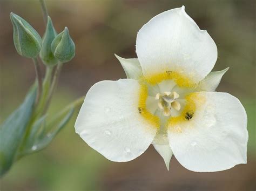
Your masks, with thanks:
[(176, 99), (179, 98), (177, 92), (157, 93), (155, 99), (158, 100), (158, 107), (163, 111), (166, 117), (171, 115), (171, 110), (180, 110), (180, 103)]

